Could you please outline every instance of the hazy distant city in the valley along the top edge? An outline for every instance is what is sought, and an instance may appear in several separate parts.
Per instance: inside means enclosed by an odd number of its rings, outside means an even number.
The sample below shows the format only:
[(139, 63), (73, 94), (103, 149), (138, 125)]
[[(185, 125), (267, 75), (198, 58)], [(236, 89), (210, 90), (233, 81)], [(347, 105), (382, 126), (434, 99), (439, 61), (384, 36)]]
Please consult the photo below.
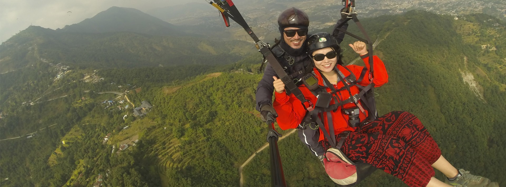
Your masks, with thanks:
[[(275, 6), (279, 5), (279, 6)], [(276, 19), (282, 9), (298, 7), (310, 15), (312, 29), (327, 28), (340, 18), (339, 11), (343, 6), (340, 1), (306, 1), (306, 2), (280, 2), (279, 0), (251, 2), (236, 4), (241, 14), (250, 26), (261, 27), (271, 32), (277, 31)], [(410, 10), (426, 10), (437, 14), (454, 16), (472, 13), (485, 13), (506, 20), (506, 1), (484, 0), (427, 0), (427, 1), (357, 1), (356, 11), (362, 18), (376, 17), (385, 14), (400, 14)], [(223, 26), (222, 20), (217, 18), (217, 12), (209, 6), (209, 12), (195, 12), (182, 17), (164, 20), (176, 25)], [(314, 19), (313, 19), (314, 18)], [(196, 21), (198, 20), (198, 21)], [(233, 25), (234, 26), (234, 25)], [(235, 25), (237, 26), (237, 25)]]

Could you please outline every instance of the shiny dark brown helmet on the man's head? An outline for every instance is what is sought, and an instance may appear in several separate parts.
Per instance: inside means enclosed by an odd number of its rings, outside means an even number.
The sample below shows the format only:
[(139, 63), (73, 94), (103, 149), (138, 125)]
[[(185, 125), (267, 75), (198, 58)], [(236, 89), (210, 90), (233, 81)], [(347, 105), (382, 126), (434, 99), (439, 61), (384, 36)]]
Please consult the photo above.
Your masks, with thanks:
[(290, 26), (303, 26), (308, 28), (309, 17), (304, 11), (292, 7), (279, 14), (278, 25), (280, 30)]

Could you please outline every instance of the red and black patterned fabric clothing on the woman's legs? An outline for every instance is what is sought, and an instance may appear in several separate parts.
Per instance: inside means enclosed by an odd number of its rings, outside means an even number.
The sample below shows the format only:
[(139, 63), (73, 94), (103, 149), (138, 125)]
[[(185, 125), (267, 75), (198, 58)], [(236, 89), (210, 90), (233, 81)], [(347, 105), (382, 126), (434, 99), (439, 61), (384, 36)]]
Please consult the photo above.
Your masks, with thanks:
[[(336, 135), (339, 141), (340, 135)], [(322, 141), (323, 142), (323, 141)], [(325, 150), (330, 146), (323, 145)], [(415, 115), (393, 111), (351, 132), (341, 150), (352, 161), (400, 178), (408, 186), (427, 186), (432, 164), (441, 156), (438, 145)]]

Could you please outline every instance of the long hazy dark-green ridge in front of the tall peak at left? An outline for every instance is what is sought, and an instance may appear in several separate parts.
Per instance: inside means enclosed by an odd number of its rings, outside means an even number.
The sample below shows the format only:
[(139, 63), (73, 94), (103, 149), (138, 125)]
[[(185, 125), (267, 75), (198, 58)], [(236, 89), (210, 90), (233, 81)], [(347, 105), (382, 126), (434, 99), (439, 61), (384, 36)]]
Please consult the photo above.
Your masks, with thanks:
[(255, 47), (244, 41), (225, 43), (133, 32), (60, 33), (30, 26), (0, 46), (0, 69), (7, 72), (37, 62), (82, 69), (227, 64), (255, 52)]

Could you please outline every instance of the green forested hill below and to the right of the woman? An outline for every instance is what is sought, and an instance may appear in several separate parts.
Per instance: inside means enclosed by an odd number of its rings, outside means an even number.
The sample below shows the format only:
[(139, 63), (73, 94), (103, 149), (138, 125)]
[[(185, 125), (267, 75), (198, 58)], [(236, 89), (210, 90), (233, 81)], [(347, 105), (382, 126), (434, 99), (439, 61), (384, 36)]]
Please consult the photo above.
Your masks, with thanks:
[[(462, 35), (454, 29), (455, 22), (451, 17), (409, 12), (402, 16), (376, 19), (385, 18), (390, 20), (376, 23), (364, 21), (366, 28), (383, 29), (376, 32), (383, 34), (373, 35), (380, 39), (386, 37), (375, 50), (389, 72), (389, 83), (375, 90), (379, 94), (376, 97), (379, 114), (393, 110), (414, 113), (433, 134), (445, 158), (455, 167), (504, 184), (504, 177), (497, 173), (506, 171), (501, 167), (506, 163), (506, 157), (501, 156), (506, 151), (503, 148), (506, 142), (502, 138), (506, 132), (503, 128), (506, 124), (503, 117), (506, 112), (506, 92), (501, 88), (505, 82), (502, 79), (504, 74), (499, 69), (486, 68), (491, 65), (480, 62), (482, 54), (489, 52), (482, 51), (475, 44), (462, 42)], [(504, 30), (504, 25), (499, 30)], [(503, 38), (498, 37), (493, 41)], [(349, 40), (347, 38), (345, 43)], [(500, 50), (497, 48), (493, 55), (504, 57)], [(484, 100), (463, 81), (461, 72), (465, 71), (473, 74), (483, 87)], [(297, 137), (290, 137), (279, 145), (288, 184), (331, 185), (326, 177), (320, 178), (325, 174), (323, 168), (315, 158), (308, 156), (306, 148), (300, 145), (296, 149), (306, 151), (306, 155), (301, 155), (286, 147), (294, 146), (296, 142)], [(261, 153), (258, 157), (245, 168), (245, 180), (251, 182), (248, 186), (269, 186), (268, 154)], [(304, 163), (305, 167), (298, 163)], [(438, 177), (441, 178), (441, 174)], [(382, 171), (376, 171), (361, 186), (403, 184)]]

